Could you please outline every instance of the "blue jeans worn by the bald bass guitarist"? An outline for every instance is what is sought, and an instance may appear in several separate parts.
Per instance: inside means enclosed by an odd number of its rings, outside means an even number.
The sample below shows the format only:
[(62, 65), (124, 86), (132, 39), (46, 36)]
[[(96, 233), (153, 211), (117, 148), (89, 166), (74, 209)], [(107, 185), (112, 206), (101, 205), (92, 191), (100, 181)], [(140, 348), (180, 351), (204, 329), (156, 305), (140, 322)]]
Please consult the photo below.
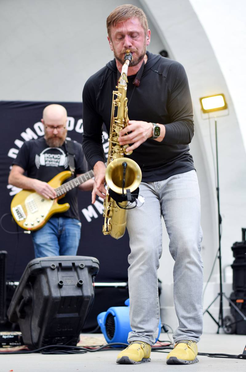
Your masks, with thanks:
[(40, 230), (32, 231), (35, 257), (76, 256), (80, 228), (76, 218), (51, 217)]

